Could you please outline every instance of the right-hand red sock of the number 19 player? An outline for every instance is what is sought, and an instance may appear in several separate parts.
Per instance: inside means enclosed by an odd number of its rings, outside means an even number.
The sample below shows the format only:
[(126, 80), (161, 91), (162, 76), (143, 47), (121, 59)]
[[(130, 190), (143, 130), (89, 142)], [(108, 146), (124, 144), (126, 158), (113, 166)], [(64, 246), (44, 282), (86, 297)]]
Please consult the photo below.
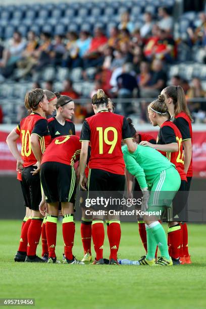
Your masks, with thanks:
[(117, 252), (121, 239), (121, 226), (120, 221), (110, 221), (108, 238), (110, 242), (110, 259), (117, 260)]

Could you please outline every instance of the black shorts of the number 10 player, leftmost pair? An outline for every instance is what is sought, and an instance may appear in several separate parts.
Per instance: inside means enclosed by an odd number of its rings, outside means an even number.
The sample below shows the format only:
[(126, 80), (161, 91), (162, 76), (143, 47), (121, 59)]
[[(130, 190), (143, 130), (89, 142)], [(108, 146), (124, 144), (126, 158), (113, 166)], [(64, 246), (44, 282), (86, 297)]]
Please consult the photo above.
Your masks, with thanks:
[(23, 168), (21, 187), (26, 206), (33, 211), (38, 211), (41, 201), (41, 184), (39, 173), (34, 176), (31, 174), (34, 169), (36, 166)]

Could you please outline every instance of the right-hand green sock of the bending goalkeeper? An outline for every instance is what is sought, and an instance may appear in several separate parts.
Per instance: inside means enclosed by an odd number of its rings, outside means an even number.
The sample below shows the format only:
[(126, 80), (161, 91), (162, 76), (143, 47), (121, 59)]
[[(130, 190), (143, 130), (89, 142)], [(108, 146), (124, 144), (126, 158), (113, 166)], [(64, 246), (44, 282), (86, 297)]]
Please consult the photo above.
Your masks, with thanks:
[(168, 252), (167, 237), (166, 237), (163, 226), (159, 223), (153, 227), (150, 227), (149, 229), (153, 237), (155, 238), (156, 243), (158, 244), (158, 247), (161, 252), (161, 256), (165, 256), (166, 259), (170, 260), (170, 255)]

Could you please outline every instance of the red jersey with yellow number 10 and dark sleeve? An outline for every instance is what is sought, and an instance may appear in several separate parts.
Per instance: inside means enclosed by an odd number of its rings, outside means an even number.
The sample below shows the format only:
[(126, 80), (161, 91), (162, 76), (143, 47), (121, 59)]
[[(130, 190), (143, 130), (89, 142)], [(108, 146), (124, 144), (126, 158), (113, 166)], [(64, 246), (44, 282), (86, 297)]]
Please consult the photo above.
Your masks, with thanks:
[(21, 138), (21, 156), (24, 161), (23, 167), (36, 164), (36, 158), (31, 149), (30, 138), (32, 133), (40, 137), (39, 144), (41, 152), (43, 153), (51, 139), (48, 132), (47, 120), (37, 113), (31, 113), (21, 120), (16, 128), (16, 133), (19, 134)]

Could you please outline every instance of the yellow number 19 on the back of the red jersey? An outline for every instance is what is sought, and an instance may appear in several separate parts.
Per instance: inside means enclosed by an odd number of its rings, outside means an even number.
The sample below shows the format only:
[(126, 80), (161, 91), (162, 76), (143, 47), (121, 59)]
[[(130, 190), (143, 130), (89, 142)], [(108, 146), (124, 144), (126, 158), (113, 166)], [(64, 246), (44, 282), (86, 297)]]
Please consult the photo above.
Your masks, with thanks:
[[(112, 153), (117, 144), (117, 138), (118, 138), (117, 129), (114, 127), (108, 127), (103, 131), (102, 127), (97, 127), (96, 130), (98, 131), (98, 134), (99, 134), (99, 155), (102, 155), (103, 153), (103, 141), (105, 141), (106, 144), (111, 145), (108, 153)], [(113, 131), (114, 133), (113, 140), (108, 139), (109, 131)]]

